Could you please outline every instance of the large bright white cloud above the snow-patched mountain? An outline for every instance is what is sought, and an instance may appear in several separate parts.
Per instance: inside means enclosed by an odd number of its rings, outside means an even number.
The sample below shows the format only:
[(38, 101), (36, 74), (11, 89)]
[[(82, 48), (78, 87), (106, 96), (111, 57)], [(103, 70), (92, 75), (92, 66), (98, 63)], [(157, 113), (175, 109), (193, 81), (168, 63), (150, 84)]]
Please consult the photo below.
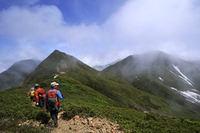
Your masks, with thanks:
[[(159, 48), (185, 53), (191, 45), (192, 50), (199, 47), (200, 8), (194, 2), (198, 1), (130, 0), (107, 21), (105, 29), (112, 31), (116, 42), (138, 52)], [(195, 56), (191, 50), (189, 54)]]

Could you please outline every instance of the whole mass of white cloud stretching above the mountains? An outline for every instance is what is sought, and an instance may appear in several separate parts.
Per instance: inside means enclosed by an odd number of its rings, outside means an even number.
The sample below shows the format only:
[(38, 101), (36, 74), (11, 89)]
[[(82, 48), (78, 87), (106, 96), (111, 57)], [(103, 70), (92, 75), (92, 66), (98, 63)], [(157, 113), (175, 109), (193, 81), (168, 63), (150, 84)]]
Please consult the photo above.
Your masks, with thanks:
[(91, 66), (156, 49), (194, 59), (200, 49), (199, 4), (129, 0), (101, 25), (69, 25), (53, 5), (12, 6), (0, 12), (0, 36), (21, 46), (21, 58), (34, 57), (37, 46), (42, 58), (59, 49)]

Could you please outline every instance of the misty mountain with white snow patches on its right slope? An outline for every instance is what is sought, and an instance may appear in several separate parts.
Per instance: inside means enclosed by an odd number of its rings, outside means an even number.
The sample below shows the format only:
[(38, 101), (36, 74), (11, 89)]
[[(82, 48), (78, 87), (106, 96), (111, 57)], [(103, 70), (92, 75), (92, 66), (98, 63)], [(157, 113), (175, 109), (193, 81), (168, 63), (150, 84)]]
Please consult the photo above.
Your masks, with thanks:
[(200, 104), (199, 62), (154, 51), (128, 56), (103, 72), (122, 77), (134, 87), (156, 96), (172, 99), (172, 94), (177, 93), (191, 103)]

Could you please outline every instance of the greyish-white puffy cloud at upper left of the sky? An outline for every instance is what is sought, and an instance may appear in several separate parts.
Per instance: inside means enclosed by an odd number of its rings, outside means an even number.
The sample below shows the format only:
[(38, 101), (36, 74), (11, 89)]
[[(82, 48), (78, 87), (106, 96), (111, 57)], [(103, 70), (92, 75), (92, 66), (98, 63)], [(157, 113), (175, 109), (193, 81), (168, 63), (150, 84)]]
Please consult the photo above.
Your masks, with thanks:
[(0, 35), (15, 40), (46, 37), (63, 23), (62, 14), (55, 6), (12, 6), (0, 13), (0, 20)]

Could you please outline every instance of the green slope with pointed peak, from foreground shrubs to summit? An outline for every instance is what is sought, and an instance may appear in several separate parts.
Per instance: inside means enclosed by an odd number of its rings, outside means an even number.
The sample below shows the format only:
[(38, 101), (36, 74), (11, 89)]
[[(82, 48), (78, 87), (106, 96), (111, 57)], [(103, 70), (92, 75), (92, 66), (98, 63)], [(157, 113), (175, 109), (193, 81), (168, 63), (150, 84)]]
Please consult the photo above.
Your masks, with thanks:
[(31, 106), (26, 93), (35, 83), (47, 90), (52, 81), (60, 83), (59, 90), (64, 96), (61, 111), (65, 111), (66, 120), (77, 114), (106, 117), (127, 133), (200, 131), (200, 117), (196, 112), (125, 84), (123, 78), (115, 81), (109, 77), (112, 76), (105, 77), (76, 58), (56, 50), (21, 86), (1, 91), (0, 127), (3, 128), (0, 131), (47, 132), (47, 127), (18, 124), (27, 119), (43, 123), (49, 120), (46, 112)]

